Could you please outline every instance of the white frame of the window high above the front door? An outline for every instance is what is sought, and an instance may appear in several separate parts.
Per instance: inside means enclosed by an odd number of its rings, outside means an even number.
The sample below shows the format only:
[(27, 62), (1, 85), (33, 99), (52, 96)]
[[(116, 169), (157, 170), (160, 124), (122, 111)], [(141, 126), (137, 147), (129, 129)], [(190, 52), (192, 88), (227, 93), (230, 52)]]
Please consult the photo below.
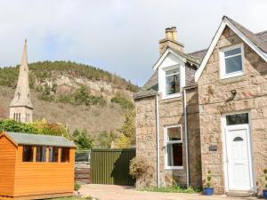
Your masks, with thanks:
[[(228, 51), (238, 49), (238, 48), (240, 48), (240, 50), (241, 50), (240, 54), (235, 54), (232, 57), (234, 57), (236, 55), (241, 55), (242, 70), (226, 74), (224, 52), (228, 52)], [(232, 45), (230, 47), (226, 47), (226, 48), (221, 49), (220, 50), (220, 60), (221, 60), (221, 79), (245, 75), (244, 46), (243, 46), (243, 44)]]

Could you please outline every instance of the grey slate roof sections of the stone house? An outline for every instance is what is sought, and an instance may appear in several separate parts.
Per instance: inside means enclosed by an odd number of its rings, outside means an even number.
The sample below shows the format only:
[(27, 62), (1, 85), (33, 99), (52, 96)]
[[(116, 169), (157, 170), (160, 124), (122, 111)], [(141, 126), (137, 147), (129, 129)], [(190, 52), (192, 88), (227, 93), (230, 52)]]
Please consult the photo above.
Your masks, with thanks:
[[(260, 48), (263, 52), (267, 53), (267, 30), (260, 32), (260, 33), (253, 33), (247, 28), (240, 25), (235, 20), (231, 20), (231, 18), (227, 16), (223, 16), (223, 18), (226, 18), (227, 20), (230, 20), (231, 23), (238, 28), (249, 40), (251, 40), (258, 48)], [(194, 64), (199, 65), (201, 61), (204, 59), (204, 56), (206, 55), (207, 49), (200, 50), (197, 52), (189, 52), (189, 53), (183, 53), (178, 52), (172, 49), (177, 54), (181, 55), (186, 60), (189, 60), (190, 62), (193, 62)], [(193, 83), (192, 83), (193, 84)], [(194, 83), (196, 84), (196, 83)], [(189, 85), (187, 85), (189, 86)], [(155, 95), (158, 91), (158, 71), (155, 71), (152, 76), (150, 76), (150, 79), (147, 81), (146, 84), (142, 86), (142, 89), (134, 94), (134, 99), (141, 99), (143, 97), (148, 97)]]

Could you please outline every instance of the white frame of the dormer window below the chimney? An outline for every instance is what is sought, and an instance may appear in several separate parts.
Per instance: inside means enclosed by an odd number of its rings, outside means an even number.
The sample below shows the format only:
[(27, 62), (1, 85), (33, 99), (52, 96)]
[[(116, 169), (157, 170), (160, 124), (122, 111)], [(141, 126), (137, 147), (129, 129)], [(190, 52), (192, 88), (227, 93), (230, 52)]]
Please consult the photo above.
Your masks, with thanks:
[[(180, 81), (180, 92), (177, 92), (177, 93), (173, 93), (173, 94), (166, 94), (166, 72), (167, 71), (170, 71), (170, 70), (173, 70), (174, 68), (178, 68), (178, 74), (179, 74), (179, 81)], [(167, 67), (167, 68), (162, 68), (163, 70), (163, 74), (164, 74), (164, 81), (163, 81), (163, 95), (162, 95), (162, 98), (164, 100), (166, 99), (171, 99), (171, 98), (174, 98), (174, 97), (180, 97), (181, 96), (181, 90), (182, 90), (182, 76), (181, 76), (181, 73), (182, 73), (182, 70), (181, 70), (181, 65), (174, 65), (174, 66), (171, 66), (171, 67)], [(171, 75), (169, 75), (171, 76)]]

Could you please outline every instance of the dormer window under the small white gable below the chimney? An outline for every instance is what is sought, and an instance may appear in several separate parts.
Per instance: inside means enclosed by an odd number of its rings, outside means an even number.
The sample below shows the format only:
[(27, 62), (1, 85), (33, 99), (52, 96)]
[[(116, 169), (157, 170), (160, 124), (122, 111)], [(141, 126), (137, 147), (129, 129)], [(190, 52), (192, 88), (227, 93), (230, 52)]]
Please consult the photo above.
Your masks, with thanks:
[(166, 95), (180, 92), (179, 68), (166, 70)]

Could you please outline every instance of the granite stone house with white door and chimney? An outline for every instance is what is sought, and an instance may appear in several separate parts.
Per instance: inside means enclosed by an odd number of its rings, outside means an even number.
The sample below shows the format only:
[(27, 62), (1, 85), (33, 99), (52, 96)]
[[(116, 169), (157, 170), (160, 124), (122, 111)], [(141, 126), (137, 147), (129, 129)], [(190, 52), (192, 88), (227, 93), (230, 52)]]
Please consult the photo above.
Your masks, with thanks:
[(267, 31), (224, 16), (208, 49), (187, 54), (169, 32), (176, 36), (166, 29), (154, 75), (134, 95), (136, 153), (155, 168), (137, 186), (202, 186), (211, 171), (217, 194), (258, 193), (267, 167)]

